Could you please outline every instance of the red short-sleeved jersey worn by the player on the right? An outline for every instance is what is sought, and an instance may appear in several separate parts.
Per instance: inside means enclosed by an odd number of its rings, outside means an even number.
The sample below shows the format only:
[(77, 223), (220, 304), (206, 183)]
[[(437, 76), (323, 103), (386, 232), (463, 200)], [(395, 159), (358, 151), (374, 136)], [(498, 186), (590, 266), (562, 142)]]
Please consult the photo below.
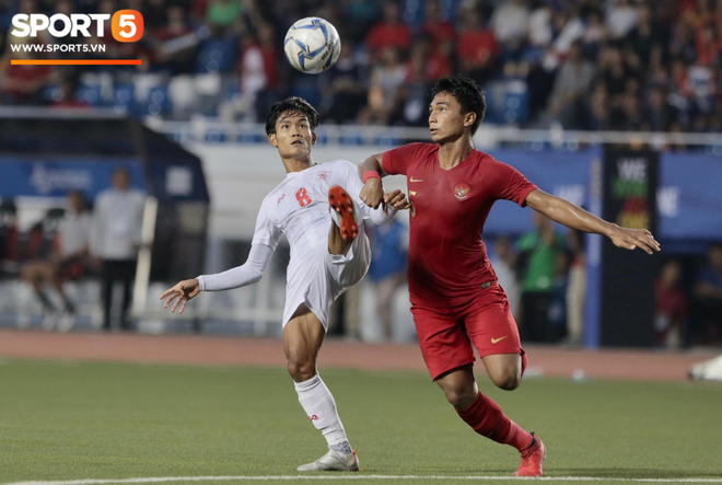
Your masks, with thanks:
[[(525, 206), (536, 185), (478, 150), (451, 170), (439, 145), (410, 143), (384, 153), (388, 174), (407, 176), (410, 208), (409, 293), (416, 307), (450, 309), (470, 302), (496, 281), (481, 240), (499, 199)], [(484, 288), (482, 288), (484, 286)]]

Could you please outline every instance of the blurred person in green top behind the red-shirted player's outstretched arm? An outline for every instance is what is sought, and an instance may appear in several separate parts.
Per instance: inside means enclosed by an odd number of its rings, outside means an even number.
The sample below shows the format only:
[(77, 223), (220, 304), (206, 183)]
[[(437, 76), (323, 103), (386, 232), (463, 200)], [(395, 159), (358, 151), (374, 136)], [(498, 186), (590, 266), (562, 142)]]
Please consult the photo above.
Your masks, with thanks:
[(533, 212), (535, 229), (520, 239), (519, 274), (522, 286), (522, 325), (524, 338), (551, 342), (558, 332), (551, 328), (549, 309), (559, 255), (564, 252), (564, 238), (554, 230), (551, 219)]

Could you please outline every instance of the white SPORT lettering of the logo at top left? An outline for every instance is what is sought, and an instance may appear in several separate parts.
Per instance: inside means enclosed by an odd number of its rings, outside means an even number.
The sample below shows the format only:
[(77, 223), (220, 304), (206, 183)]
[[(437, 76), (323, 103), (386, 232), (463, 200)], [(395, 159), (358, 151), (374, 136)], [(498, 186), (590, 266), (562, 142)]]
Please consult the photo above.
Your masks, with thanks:
[[(47, 31), (54, 37), (91, 37), (90, 27), (95, 23), (98, 37), (105, 34), (105, 21), (109, 20), (107, 13), (72, 13), (70, 16), (63, 13), (56, 13), (48, 18), (42, 13), (19, 13), (12, 18), (12, 25), (15, 27), (11, 34), (15, 37), (37, 37), (37, 33)], [(56, 23), (61, 23), (62, 28), (56, 28)]]

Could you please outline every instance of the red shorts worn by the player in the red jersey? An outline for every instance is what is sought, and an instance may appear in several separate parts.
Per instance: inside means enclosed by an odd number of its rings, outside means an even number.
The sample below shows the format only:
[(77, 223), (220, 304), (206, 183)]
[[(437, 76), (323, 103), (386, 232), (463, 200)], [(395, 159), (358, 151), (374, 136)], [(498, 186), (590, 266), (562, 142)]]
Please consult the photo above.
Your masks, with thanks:
[(467, 304), (443, 311), (424, 308), (417, 301), (411, 313), (421, 354), (433, 380), (452, 369), (473, 363), (471, 344), (479, 357), (524, 354), (506, 295), (497, 282)]

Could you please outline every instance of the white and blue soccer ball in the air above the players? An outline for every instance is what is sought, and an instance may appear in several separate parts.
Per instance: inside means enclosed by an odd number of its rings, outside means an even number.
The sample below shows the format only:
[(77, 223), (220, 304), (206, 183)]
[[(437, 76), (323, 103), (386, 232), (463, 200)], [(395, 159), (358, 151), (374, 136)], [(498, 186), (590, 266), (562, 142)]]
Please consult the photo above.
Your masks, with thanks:
[(341, 39), (330, 22), (308, 16), (291, 25), (283, 50), (291, 66), (301, 72), (317, 74), (336, 63), (341, 54)]

